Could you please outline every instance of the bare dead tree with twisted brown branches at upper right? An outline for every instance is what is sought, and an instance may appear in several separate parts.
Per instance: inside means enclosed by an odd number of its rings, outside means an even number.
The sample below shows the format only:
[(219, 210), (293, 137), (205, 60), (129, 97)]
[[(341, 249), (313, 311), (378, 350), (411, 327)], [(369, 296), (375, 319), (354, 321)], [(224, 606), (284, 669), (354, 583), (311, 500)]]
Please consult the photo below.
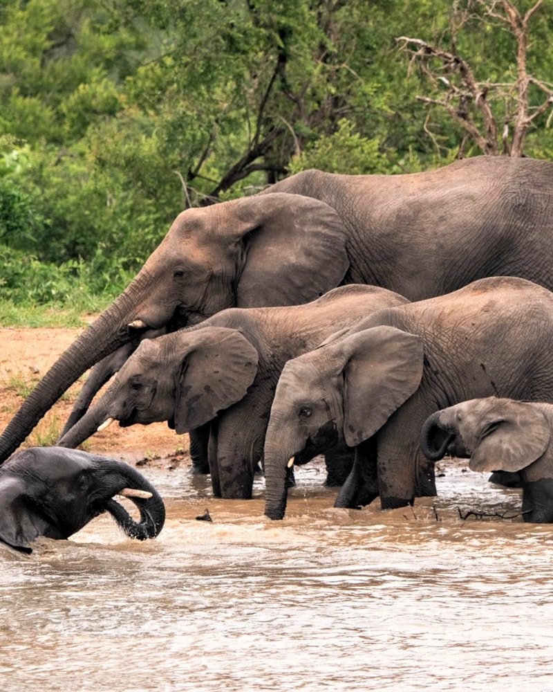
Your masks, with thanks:
[[(418, 66), (433, 88), (434, 95), (417, 98), (429, 106), (444, 109), (464, 131), (459, 155), (472, 142), (483, 154), (501, 152), (523, 156), (529, 128), (547, 113), (549, 127), (553, 116), (553, 85), (530, 74), (527, 66), (531, 25), (535, 24), (542, 6), (543, 0), (537, 0), (521, 12), (511, 0), (457, 1), (451, 16), (450, 50), (418, 38), (397, 39), (410, 55), (410, 69)], [(476, 78), (471, 60), (458, 51), (460, 32), (474, 30), (475, 26), (480, 33), (489, 34), (491, 29), (494, 36), (498, 30), (507, 30), (515, 44), (514, 80)], [(480, 71), (488, 71), (489, 75), (490, 67), (480, 65)], [(508, 72), (504, 66), (503, 73), (508, 75)], [(427, 131), (430, 134), (429, 127)]]

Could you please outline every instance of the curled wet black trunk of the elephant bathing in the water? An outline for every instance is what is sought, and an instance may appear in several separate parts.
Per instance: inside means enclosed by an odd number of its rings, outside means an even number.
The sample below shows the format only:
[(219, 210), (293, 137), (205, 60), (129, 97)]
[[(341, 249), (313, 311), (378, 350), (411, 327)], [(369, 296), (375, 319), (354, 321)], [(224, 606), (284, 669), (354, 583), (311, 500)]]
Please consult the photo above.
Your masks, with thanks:
[[(104, 507), (130, 538), (137, 540), (156, 538), (165, 523), (165, 504), (156, 488), (141, 473), (135, 471), (132, 466), (126, 464), (124, 466), (126, 467), (123, 472), (124, 487), (144, 491), (144, 493), (151, 495), (148, 498), (129, 495), (129, 499), (140, 511), (140, 521), (135, 521), (126, 509), (113, 498), (107, 500)], [(123, 489), (123, 487), (120, 488), (118, 492)]]

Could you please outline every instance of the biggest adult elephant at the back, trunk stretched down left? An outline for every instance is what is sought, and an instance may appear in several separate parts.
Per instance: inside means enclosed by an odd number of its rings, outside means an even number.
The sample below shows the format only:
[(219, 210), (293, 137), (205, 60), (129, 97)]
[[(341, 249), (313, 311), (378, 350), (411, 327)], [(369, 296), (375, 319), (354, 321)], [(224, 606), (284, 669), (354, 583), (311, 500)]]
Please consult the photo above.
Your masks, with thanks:
[(50, 368), (0, 437), (0, 461), (88, 367), (178, 313), (299, 304), (341, 283), (409, 300), (478, 277), (553, 289), (553, 164), (476, 157), (431, 172), (306, 171), (265, 192), (182, 212), (125, 291)]

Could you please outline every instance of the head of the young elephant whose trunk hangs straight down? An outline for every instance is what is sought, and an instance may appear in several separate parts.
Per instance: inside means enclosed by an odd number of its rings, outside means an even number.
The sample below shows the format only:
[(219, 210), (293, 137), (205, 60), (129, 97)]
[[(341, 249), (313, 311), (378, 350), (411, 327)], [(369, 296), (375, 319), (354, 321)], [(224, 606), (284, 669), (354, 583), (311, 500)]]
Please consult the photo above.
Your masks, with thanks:
[(265, 437), (265, 515), (281, 519), (286, 468), (345, 441), (372, 437), (417, 390), (420, 338), (395, 327), (374, 327), (329, 339), (285, 365)]

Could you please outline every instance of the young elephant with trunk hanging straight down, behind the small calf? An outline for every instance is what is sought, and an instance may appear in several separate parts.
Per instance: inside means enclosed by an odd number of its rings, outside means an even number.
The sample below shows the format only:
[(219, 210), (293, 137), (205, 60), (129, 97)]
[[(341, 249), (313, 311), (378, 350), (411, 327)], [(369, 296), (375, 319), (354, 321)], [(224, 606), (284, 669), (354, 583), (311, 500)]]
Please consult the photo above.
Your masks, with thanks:
[(283, 368), (265, 437), (265, 514), (284, 516), (288, 459), (340, 439), (355, 446), (355, 463), (337, 507), (435, 494), (422, 424), (494, 395), (553, 401), (553, 293), (495, 277), (373, 313)]

